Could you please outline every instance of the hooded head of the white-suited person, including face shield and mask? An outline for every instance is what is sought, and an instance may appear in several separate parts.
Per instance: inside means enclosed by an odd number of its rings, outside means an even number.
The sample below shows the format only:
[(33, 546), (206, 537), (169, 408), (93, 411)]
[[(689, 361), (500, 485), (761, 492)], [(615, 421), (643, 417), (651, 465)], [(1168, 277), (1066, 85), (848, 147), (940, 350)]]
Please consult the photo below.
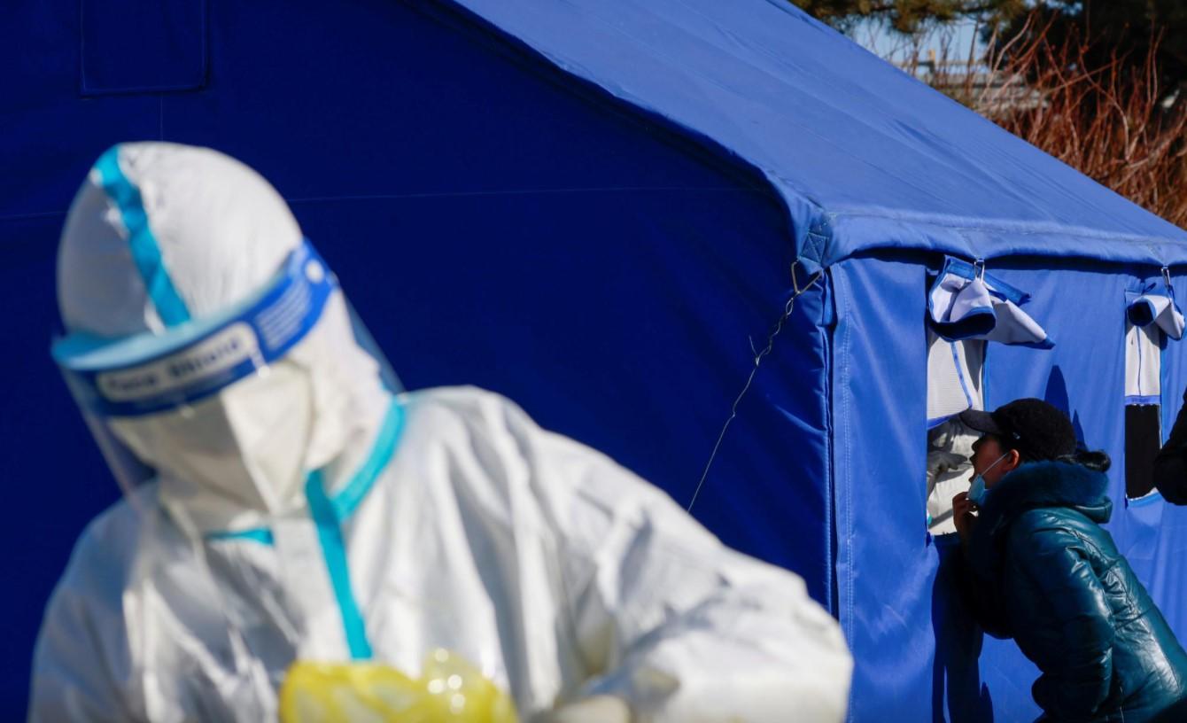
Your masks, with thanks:
[[(125, 489), (150, 477), (192, 532), (304, 505), (383, 414), (380, 368), (280, 195), (209, 148), (121, 144), (58, 252), (53, 353)], [(329, 474), (332, 483), (332, 469)]]

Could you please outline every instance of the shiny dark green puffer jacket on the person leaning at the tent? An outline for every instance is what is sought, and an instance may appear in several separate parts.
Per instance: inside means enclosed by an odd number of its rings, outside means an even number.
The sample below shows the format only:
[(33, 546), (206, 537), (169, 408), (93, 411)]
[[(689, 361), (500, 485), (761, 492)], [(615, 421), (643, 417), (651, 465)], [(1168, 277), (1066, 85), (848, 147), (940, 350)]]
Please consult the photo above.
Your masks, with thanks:
[(990, 491), (965, 551), (978, 622), (1042, 672), (1042, 721), (1161, 721), (1187, 704), (1187, 653), (1100, 527), (1106, 489), (1086, 467), (1024, 464)]

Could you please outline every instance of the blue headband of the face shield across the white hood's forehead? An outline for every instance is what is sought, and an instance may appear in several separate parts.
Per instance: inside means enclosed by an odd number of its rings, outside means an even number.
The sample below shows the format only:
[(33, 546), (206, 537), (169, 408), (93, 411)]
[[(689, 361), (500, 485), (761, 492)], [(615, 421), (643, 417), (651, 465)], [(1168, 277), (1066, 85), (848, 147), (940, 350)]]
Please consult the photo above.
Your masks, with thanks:
[(223, 315), (115, 342), (70, 335), (52, 355), (85, 411), (152, 414), (201, 401), (287, 354), (337, 287), (305, 240), (262, 292)]

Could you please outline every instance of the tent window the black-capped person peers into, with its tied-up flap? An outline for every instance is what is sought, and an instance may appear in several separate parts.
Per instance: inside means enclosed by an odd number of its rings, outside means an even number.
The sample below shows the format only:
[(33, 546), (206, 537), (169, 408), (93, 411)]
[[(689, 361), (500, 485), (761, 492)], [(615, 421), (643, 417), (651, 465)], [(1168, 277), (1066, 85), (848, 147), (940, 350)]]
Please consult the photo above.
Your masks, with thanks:
[(960, 423), (983, 410), (989, 342), (1048, 349), (1046, 330), (1021, 309), (1029, 296), (985, 273), (984, 264), (946, 259), (927, 297), (927, 529), (956, 532), (952, 497), (967, 491), (972, 444)]

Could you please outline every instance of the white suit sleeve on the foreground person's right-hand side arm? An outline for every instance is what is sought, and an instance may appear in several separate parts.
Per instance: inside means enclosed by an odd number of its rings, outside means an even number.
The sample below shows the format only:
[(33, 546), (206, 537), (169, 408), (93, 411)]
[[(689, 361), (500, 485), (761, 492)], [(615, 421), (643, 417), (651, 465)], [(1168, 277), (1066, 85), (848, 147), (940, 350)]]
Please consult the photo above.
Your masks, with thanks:
[(584, 696), (622, 698), (640, 722), (844, 718), (852, 660), (799, 577), (509, 402), (506, 418), (554, 525)]

